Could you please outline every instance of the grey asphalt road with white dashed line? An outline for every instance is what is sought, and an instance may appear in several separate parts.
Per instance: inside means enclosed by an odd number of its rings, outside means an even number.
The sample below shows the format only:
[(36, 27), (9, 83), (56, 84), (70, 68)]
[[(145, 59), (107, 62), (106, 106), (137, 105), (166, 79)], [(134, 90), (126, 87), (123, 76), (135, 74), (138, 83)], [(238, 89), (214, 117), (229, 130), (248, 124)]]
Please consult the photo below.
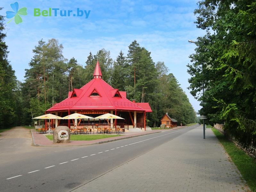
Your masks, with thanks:
[(34, 150), (0, 163), (0, 191), (71, 191), (196, 126), (98, 145)]

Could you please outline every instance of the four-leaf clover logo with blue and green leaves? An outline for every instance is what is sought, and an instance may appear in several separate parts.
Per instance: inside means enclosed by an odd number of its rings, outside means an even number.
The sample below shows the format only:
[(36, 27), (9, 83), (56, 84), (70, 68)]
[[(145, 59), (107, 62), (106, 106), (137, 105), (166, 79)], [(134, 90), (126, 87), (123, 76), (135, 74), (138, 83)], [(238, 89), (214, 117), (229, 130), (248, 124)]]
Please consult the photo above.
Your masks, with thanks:
[(22, 19), (21, 19), (21, 16), (20, 15), (27, 15), (27, 7), (22, 7), (20, 10), (19, 10), (19, 4), (18, 2), (15, 2), (15, 3), (12, 3), (10, 4), (11, 5), (11, 8), (12, 10), (14, 11), (7, 11), (6, 12), (6, 18), (7, 19), (11, 19), (7, 22), (10, 23), (12, 20), (13, 20), (13, 17), (14, 17), (14, 21), (16, 24), (19, 24), (19, 23), (22, 23)]

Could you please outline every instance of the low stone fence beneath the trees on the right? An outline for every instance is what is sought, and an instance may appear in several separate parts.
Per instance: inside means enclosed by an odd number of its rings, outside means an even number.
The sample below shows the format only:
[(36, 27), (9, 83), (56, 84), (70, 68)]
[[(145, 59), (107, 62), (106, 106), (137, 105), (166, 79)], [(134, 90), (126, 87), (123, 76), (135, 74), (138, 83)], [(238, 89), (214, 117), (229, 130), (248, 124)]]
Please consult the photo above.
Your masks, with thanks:
[(256, 160), (256, 148), (253, 146), (249, 146), (247, 148), (244, 148), (243, 145), (237, 141), (234, 137), (231, 135), (228, 135), (227, 132), (225, 132), (224, 125), (223, 124), (214, 124), (214, 128), (217, 129), (219, 132), (221, 132), (223, 135), (226, 135), (230, 141), (232, 141), (236, 147), (243, 150), (247, 155), (251, 156)]

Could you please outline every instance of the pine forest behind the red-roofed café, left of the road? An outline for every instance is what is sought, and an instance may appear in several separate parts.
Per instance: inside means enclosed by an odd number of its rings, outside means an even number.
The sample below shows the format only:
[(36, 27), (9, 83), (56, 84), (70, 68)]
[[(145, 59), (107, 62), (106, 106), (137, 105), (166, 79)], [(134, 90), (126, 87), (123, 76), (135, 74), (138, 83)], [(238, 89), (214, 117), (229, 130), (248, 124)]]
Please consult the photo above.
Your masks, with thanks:
[[(120, 91), (127, 92), (129, 100), (149, 102), (153, 110), (147, 114), (149, 126), (160, 126), (161, 117), (168, 112), (178, 123), (197, 121), (195, 111), (177, 79), (164, 62), (154, 62), (150, 52), (136, 40), (128, 46), (125, 55), (110, 57), (104, 48), (88, 53), (85, 63), (79, 64), (73, 57), (65, 59), (63, 46), (57, 39), (38, 41), (33, 49), (29, 68), (25, 69), (24, 82), (17, 81), (7, 60), (6, 34), (3, 17), (0, 18), (0, 127), (32, 124), (32, 117), (45, 113), (54, 103), (67, 98), (68, 92), (81, 88), (93, 78), (96, 61), (99, 60), (103, 80)], [(85, 53), (86, 55), (86, 53)]]

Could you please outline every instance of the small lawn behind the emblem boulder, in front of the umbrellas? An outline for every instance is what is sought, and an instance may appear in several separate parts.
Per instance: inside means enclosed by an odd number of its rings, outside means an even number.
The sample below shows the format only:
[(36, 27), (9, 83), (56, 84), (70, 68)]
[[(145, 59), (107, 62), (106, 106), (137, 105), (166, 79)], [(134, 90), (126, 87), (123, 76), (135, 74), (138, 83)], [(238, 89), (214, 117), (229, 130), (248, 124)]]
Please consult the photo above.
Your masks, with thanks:
[[(104, 139), (109, 137), (118, 137), (121, 135), (70, 135), (72, 141), (90, 141), (96, 139)], [(53, 135), (45, 135), (49, 140), (53, 140)]]

